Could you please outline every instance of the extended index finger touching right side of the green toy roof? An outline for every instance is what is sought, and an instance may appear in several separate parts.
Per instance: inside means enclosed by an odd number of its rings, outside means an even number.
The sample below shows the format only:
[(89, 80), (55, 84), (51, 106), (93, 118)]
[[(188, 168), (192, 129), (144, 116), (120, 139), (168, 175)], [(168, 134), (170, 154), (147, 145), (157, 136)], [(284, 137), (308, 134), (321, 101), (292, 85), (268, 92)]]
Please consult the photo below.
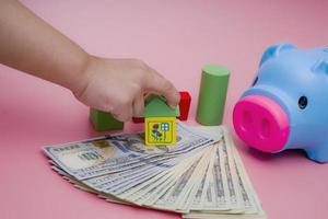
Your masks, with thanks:
[(144, 81), (144, 89), (156, 94), (163, 95), (167, 104), (175, 108), (179, 101), (180, 95), (172, 82), (163, 78), (154, 69), (150, 68), (151, 73), (147, 77)]

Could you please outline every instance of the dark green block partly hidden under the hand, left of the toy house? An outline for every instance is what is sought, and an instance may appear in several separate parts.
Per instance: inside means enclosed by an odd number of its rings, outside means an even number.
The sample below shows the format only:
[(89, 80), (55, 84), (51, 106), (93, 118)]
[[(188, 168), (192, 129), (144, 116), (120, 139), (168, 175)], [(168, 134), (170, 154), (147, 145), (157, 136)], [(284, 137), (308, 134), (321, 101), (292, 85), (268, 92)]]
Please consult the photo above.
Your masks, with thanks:
[(90, 120), (97, 131), (118, 130), (124, 128), (124, 123), (114, 118), (109, 113), (90, 108)]

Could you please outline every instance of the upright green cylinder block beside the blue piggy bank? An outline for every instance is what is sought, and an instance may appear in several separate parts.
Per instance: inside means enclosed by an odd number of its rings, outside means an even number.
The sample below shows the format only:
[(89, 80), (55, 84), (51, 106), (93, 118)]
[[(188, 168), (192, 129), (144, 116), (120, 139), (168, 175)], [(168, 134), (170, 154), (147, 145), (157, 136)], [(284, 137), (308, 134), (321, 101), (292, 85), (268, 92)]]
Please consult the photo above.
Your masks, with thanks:
[(202, 68), (196, 120), (206, 126), (222, 124), (230, 70), (224, 66)]

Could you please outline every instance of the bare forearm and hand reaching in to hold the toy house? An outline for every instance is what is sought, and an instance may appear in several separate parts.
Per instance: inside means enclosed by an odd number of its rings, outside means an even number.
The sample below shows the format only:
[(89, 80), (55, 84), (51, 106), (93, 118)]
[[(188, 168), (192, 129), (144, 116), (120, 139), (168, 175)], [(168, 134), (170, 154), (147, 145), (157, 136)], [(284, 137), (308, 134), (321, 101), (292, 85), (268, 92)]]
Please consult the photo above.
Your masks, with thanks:
[(70, 89), (82, 103), (119, 120), (140, 116), (143, 92), (179, 94), (155, 70), (136, 59), (90, 56), (19, 1), (0, 1), (0, 62)]

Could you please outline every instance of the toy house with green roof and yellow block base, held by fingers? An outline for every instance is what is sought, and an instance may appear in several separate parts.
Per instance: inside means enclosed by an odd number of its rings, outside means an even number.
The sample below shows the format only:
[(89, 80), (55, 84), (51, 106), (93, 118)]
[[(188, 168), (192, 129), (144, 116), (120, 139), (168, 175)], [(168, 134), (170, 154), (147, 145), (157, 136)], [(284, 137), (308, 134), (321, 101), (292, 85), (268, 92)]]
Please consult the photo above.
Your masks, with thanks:
[(144, 100), (144, 141), (147, 146), (176, 143), (176, 117), (179, 108), (173, 110), (163, 96), (149, 94)]

